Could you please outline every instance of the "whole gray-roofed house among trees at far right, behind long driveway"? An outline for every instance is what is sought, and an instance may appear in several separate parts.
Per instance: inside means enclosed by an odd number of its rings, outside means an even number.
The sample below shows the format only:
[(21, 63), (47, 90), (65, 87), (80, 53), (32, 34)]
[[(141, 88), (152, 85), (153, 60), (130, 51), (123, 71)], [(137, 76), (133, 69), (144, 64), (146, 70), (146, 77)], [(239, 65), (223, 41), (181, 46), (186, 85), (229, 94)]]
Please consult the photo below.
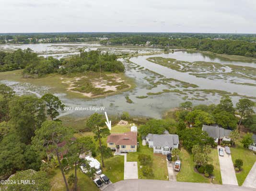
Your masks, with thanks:
[(203, 125), (202, 127), (203, 131), (206, 131), (209, 135), (209, 137), (214, 138), (214, 142), (218, 143), (218, 145), (221, 144), (221, 141), (231, 141), (230, 133), (231, 130), (229, 129), (224, 129), (222, 127), (217, 126), (208, 126), (208, 125)]

